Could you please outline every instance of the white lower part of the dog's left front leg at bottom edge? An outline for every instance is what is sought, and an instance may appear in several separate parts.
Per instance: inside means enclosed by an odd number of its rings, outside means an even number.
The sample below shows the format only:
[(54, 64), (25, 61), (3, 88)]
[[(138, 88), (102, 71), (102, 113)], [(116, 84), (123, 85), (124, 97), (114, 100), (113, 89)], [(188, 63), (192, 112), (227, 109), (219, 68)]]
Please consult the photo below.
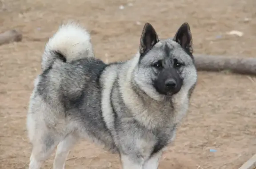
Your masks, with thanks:
[(120, 154), (122, 169), (143, 169), (143, 157), (137, 157), (133, 154)]

